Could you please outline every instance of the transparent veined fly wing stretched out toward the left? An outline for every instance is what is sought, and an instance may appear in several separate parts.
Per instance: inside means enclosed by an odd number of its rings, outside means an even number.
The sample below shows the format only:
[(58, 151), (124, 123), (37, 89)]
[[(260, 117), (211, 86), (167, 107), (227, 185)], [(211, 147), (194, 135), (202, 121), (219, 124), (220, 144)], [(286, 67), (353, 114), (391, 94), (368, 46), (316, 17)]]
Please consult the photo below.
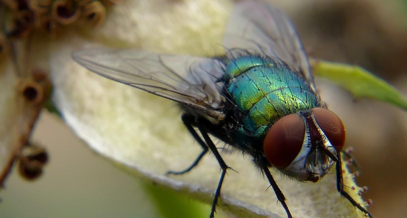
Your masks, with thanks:
[(204, 57), (141, 50), (86, 49), (72, 58), (106, 78), (142, 89), (221, 118), (223, 65)]

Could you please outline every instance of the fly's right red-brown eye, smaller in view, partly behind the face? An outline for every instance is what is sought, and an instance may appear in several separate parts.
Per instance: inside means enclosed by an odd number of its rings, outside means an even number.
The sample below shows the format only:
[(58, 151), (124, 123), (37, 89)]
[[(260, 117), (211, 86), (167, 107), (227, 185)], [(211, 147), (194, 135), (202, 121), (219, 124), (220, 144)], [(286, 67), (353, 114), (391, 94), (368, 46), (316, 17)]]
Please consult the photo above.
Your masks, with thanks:
[(342, 150), (345, 144), (345, 127), (337, 114), (323, 108), (314, 108), (312, 112), (331, 144), (337, 151)]

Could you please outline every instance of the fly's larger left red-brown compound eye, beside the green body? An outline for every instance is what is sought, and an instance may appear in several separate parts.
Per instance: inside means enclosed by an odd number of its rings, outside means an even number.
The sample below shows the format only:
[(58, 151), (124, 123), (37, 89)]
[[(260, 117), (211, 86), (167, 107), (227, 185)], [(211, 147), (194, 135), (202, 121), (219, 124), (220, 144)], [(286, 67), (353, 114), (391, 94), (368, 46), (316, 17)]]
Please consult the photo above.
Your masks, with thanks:
[(263, 149), (267, 160), (277, 168), (285, 168), (301, 151), (305, 124), (296, 114), (280, 118), (271, 126), (264, 140)]

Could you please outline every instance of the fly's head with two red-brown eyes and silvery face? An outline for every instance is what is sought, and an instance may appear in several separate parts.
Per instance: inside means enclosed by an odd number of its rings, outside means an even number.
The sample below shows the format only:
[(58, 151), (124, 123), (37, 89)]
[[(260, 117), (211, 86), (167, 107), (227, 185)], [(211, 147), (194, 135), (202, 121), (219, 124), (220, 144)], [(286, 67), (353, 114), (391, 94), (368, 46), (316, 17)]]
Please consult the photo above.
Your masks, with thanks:
[(339, 117), (314, 108), (280, 118), (267, 133), (263, 148), (267, 160), (282, 173), (317, 182), (338, 162), (344, 142)]

